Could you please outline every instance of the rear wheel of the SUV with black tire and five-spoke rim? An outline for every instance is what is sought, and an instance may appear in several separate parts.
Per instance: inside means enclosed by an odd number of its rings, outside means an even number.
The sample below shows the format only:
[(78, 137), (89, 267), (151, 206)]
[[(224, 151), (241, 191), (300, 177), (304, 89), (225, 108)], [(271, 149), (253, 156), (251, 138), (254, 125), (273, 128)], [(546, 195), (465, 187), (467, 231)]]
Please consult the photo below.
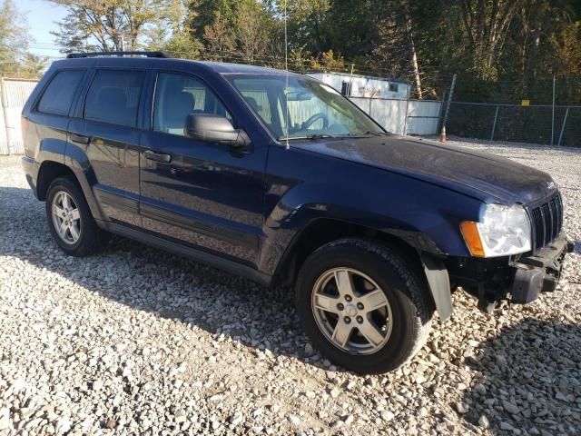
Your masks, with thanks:
[[(69, 209), (63, 207), (66, 195), (68, 195)], [(57, 219), (54, 218), (54, 205), (57, 208), (55, 210), (59, 211), (57, 214), (60, 215)], [(68, 214), (66, 211), (69, 211)], [(77, 216), (78, 221), (75, 219)], [(72, 256), (83, 257), (94, 254), (107, 240), (106, 233), (95, 223), (84, 194), (73, 177), (59, 177), (54, 179), (48, 187), (46, 219), (54, 242), (64, 253)], [(60, 227), (58, 224), (64, 220), (67, 220), (65, 223), (73, 224), (68, 226), (69, 229), (63, 237), (62, 231), (59, 231), (57, 227)], [(65, 227), (67, 226), (65, 225)]]

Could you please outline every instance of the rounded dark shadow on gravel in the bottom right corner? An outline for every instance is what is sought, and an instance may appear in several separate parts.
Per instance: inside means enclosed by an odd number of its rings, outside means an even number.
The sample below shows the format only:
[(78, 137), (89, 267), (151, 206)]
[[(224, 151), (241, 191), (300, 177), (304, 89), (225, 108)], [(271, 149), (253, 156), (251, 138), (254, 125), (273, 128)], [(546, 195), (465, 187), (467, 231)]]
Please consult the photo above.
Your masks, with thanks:
[[(581, 327), (525, 319), (467, 357), (463, 417), (493, 434), (581, 434)], [(486, 418), (482, 418), (482, 417)]]

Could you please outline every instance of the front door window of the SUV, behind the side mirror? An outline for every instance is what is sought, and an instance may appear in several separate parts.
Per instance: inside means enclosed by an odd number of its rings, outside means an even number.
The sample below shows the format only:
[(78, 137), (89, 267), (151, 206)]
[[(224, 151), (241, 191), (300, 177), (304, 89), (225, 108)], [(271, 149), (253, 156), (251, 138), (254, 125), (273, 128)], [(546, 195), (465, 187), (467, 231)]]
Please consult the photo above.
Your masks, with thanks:
[(153, 130), (183, 136), (188, 114), (215, 114), (232, 120), (216, 94), (186, 74), (160, 73), (155, 86)]

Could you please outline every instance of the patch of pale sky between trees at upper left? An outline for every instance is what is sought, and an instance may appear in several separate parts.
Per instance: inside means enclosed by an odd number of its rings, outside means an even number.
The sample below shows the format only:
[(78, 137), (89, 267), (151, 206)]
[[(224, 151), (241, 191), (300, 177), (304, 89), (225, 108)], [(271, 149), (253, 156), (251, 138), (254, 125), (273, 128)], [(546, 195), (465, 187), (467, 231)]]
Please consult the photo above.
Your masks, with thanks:
[(34, 38), (34, 42), (30, 43), (30, 51), (48, 57), (62, 56), (50, 32), (58, 30), (55, 22), (66, 15), (64, 7), (48, 0), (15, 0), (14, 3), (28, 19), (28, 31)]

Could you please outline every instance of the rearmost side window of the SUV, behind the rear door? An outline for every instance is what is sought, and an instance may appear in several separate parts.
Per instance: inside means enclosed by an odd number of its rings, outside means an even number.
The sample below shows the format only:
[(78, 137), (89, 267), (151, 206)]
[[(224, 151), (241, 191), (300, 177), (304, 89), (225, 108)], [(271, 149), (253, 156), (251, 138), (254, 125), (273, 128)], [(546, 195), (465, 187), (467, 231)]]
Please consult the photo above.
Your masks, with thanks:
[(38, 103), (38, 111), (44, 114), (68, 115), (84, 70), (64, 70), (54, 75)]

